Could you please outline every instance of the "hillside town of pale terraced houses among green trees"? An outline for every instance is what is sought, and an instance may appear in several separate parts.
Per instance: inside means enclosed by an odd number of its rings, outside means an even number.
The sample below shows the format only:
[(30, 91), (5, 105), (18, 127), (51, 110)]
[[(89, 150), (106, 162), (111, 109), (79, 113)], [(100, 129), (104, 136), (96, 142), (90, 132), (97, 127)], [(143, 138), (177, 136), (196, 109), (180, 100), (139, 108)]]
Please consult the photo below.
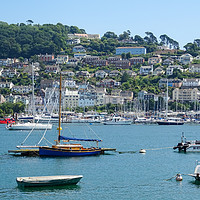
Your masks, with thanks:
[[(167, 45), (166, 36), (160, 37), (162, 42), (154, 42), (155, 36), (147, 33), (148, 38), (139, 38), (142, 42), (128, 31), (119, 37), (107, 32), (103, 39), (99, 34), (68, 33), (65, 50), (41, 51), (27, 58), (5, 58), (6, 54), (0, 54), (1, 117), (30, 114), (33, 108), (37, 114), (58, 113), (61, 73), (63, 113), (90, 111), (161, 117), (167, 102), (174, 115), (198, 118), (199, 50), (194, 52), (189, 45), (185, 51), (180, 50), (174, 40)], [(111, 36), (117, 41), (112, 53), (95, 50), (95, 45)], [(17, 103), (23, 106), (9, 110), (3, 106)]]

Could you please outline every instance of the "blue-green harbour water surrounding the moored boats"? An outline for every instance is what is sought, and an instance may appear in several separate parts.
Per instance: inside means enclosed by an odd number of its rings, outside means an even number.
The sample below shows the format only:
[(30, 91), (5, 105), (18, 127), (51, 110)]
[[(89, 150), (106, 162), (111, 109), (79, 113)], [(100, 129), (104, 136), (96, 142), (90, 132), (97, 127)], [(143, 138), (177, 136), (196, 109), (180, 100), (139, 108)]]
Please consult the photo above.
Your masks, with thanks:
[[(158, 126), (130, 125), (90, 127), (103, 140), (101, 147), (116, 148), (117, 152), (94, 157), (40, 158), (8, 155), (8, 150), (25, 139), (26, 131), (9, 131), (0, 126), (0, 199), (198, 199), (200, 185), (192, 177), (182, 182), (170, 177), (194, 172), (200, 153), (177, 153), (176, 145), (184, 132), (187, 139), (200, 139), (200, 125)], [(64, 124), (67, 134), (86, 136), (83, 124)], [(42, 132), (34, 132), (30, 141), (36, 142)], [(71, 136), (71, 135), (70, 135)], [(46, 138), (54, 142), (56, 127)], [(79, 135), (80, 137), (80, 135)], [(93, 138), (95, 136), (93, 135)], [(27, 141), (28, 142), (28, 141)], [(30, 143), (29, 143), (30, 144)], [(140, 154), (140, 149), (147, 149)], [(121, 153), (119, 153), (121, 152)], [(83, 175), (77, 186), (21, 189), (16, 177), (43, 175)]]

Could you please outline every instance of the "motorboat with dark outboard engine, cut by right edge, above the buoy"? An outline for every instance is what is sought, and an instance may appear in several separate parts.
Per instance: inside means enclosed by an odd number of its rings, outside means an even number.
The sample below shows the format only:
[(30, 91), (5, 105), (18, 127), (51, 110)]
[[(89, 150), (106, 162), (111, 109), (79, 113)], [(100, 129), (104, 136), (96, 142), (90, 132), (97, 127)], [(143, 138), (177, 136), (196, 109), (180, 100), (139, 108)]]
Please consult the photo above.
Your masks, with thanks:
[(179, 152), (200, 152), (200, 140), (186, 140), (184, 135), (181, 136), (181, 142), (173, 149), (178, 149)]

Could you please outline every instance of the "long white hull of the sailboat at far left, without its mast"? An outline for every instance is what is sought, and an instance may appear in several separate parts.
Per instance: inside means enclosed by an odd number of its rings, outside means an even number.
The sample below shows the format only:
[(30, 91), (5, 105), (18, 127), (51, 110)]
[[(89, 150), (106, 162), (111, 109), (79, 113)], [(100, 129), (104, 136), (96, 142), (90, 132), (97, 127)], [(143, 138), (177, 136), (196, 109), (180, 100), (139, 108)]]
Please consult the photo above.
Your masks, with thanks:
[(41, 123), (16, 123), (8, 124), (6, 127), (8, 130), (51, 130), (52, 124), (41, 124)]

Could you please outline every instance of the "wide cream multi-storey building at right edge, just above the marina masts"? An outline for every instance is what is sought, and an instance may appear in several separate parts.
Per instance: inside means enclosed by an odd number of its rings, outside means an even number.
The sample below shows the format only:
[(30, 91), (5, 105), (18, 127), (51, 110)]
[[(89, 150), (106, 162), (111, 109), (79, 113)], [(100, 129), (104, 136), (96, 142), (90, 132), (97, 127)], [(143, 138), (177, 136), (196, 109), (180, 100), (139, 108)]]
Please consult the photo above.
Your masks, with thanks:
[(176, 88), (172, 92), (173, 100), (180, 102), (194, 102), (200, 98), (200, 91), (197, 88), (193, 89), (179, 89)]

